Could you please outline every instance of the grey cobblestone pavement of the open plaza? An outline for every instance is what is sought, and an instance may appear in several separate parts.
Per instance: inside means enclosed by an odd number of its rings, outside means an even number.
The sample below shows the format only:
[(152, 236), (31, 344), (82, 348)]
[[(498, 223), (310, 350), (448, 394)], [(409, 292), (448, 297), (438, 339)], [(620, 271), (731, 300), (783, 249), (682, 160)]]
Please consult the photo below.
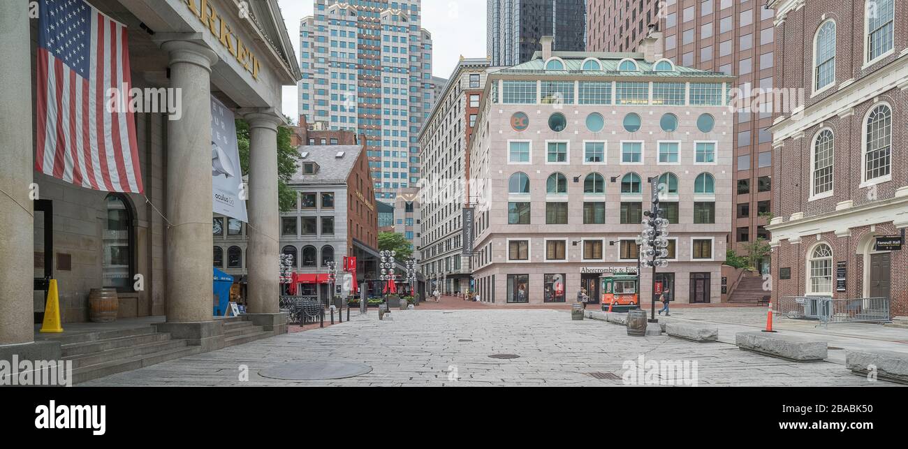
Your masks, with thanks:
[[(696, 361), (699, 386), (892, 386), (844, 366), (794, 363), (725, 343), (628, 337), (625, 327), (563, 310), (400, 310), (228, 347), (107, 376), (82, 386), (622, 386), (626, 361)], [(519, 358), (496, 359), (494, 354)], [(289, 382), (259, 376), (271, 366), (349, 361), (370, 373)], [(249, 381), (239, 380), (240, 366)], [(600, 380), (589, 373), (614, 373)]]

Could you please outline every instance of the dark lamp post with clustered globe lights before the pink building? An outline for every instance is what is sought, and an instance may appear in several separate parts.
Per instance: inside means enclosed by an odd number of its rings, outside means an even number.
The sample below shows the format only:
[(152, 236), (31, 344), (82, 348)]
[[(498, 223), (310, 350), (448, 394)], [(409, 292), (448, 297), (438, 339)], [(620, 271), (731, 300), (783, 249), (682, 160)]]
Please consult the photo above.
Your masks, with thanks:
[[(637, 250), (637, 278), (640, 278), (640, 269), (642, 266), (653, 268), (653, 296), (650, 299), (650, 323), (657, 323), (656, 319), (656, 267), (667, 267), (668, 261), (668, 220), (662, 217), (663, 211), (659, 209), (659, 192), (662, 186), (659, 184), (659, 177), (650, 178), (650, 184), (653, 188), (651, 210), (644, 212), (646, 219), (643, 220), (643, 230), (640, 237), (637, 238), (637, 244), (640, 245)], [(646, 259), (643, 259), (646, 257)]]

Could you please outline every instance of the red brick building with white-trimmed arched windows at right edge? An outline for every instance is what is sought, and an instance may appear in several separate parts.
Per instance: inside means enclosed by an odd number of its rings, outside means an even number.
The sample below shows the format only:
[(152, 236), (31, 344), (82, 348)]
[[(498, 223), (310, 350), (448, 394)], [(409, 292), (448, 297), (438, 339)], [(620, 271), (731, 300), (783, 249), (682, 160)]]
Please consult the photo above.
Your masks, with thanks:
[(908, 228), (908, 5), (859, 3), (769, 2), (775, 78), (806, 97), (772, 128), (773, 298), (888, 297), (905, 316), (908, 254), (877, 240)]

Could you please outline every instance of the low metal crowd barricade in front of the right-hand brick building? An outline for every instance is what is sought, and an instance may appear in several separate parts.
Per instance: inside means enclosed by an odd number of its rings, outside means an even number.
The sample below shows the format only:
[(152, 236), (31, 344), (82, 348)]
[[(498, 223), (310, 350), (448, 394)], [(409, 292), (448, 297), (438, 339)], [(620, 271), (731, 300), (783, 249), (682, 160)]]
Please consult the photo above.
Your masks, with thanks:
[(885, 323), (890, 320), (889, 298), (785, 297), (774, 304), (774, 313), (790, 319), (829, 323)]

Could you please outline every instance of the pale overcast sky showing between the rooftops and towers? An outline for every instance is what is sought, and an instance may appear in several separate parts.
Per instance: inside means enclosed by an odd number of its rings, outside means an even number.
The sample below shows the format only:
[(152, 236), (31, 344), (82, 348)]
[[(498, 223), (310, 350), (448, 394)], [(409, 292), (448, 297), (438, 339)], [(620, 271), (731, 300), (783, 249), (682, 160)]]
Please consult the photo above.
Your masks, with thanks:
[[(300, 58), (300, 19), (312, 15), (312, 0), (278, 0), (281, 14), (287, 25), (293, 49)], [(460, 55), (486, 56), (486, 2), (485, 0), (423, 0), (422, 27), (432, 34), (432, 72), (448, 78)], [(297, 92), (295, 87), (284, 87), (283, 112), (297, 120)]]

